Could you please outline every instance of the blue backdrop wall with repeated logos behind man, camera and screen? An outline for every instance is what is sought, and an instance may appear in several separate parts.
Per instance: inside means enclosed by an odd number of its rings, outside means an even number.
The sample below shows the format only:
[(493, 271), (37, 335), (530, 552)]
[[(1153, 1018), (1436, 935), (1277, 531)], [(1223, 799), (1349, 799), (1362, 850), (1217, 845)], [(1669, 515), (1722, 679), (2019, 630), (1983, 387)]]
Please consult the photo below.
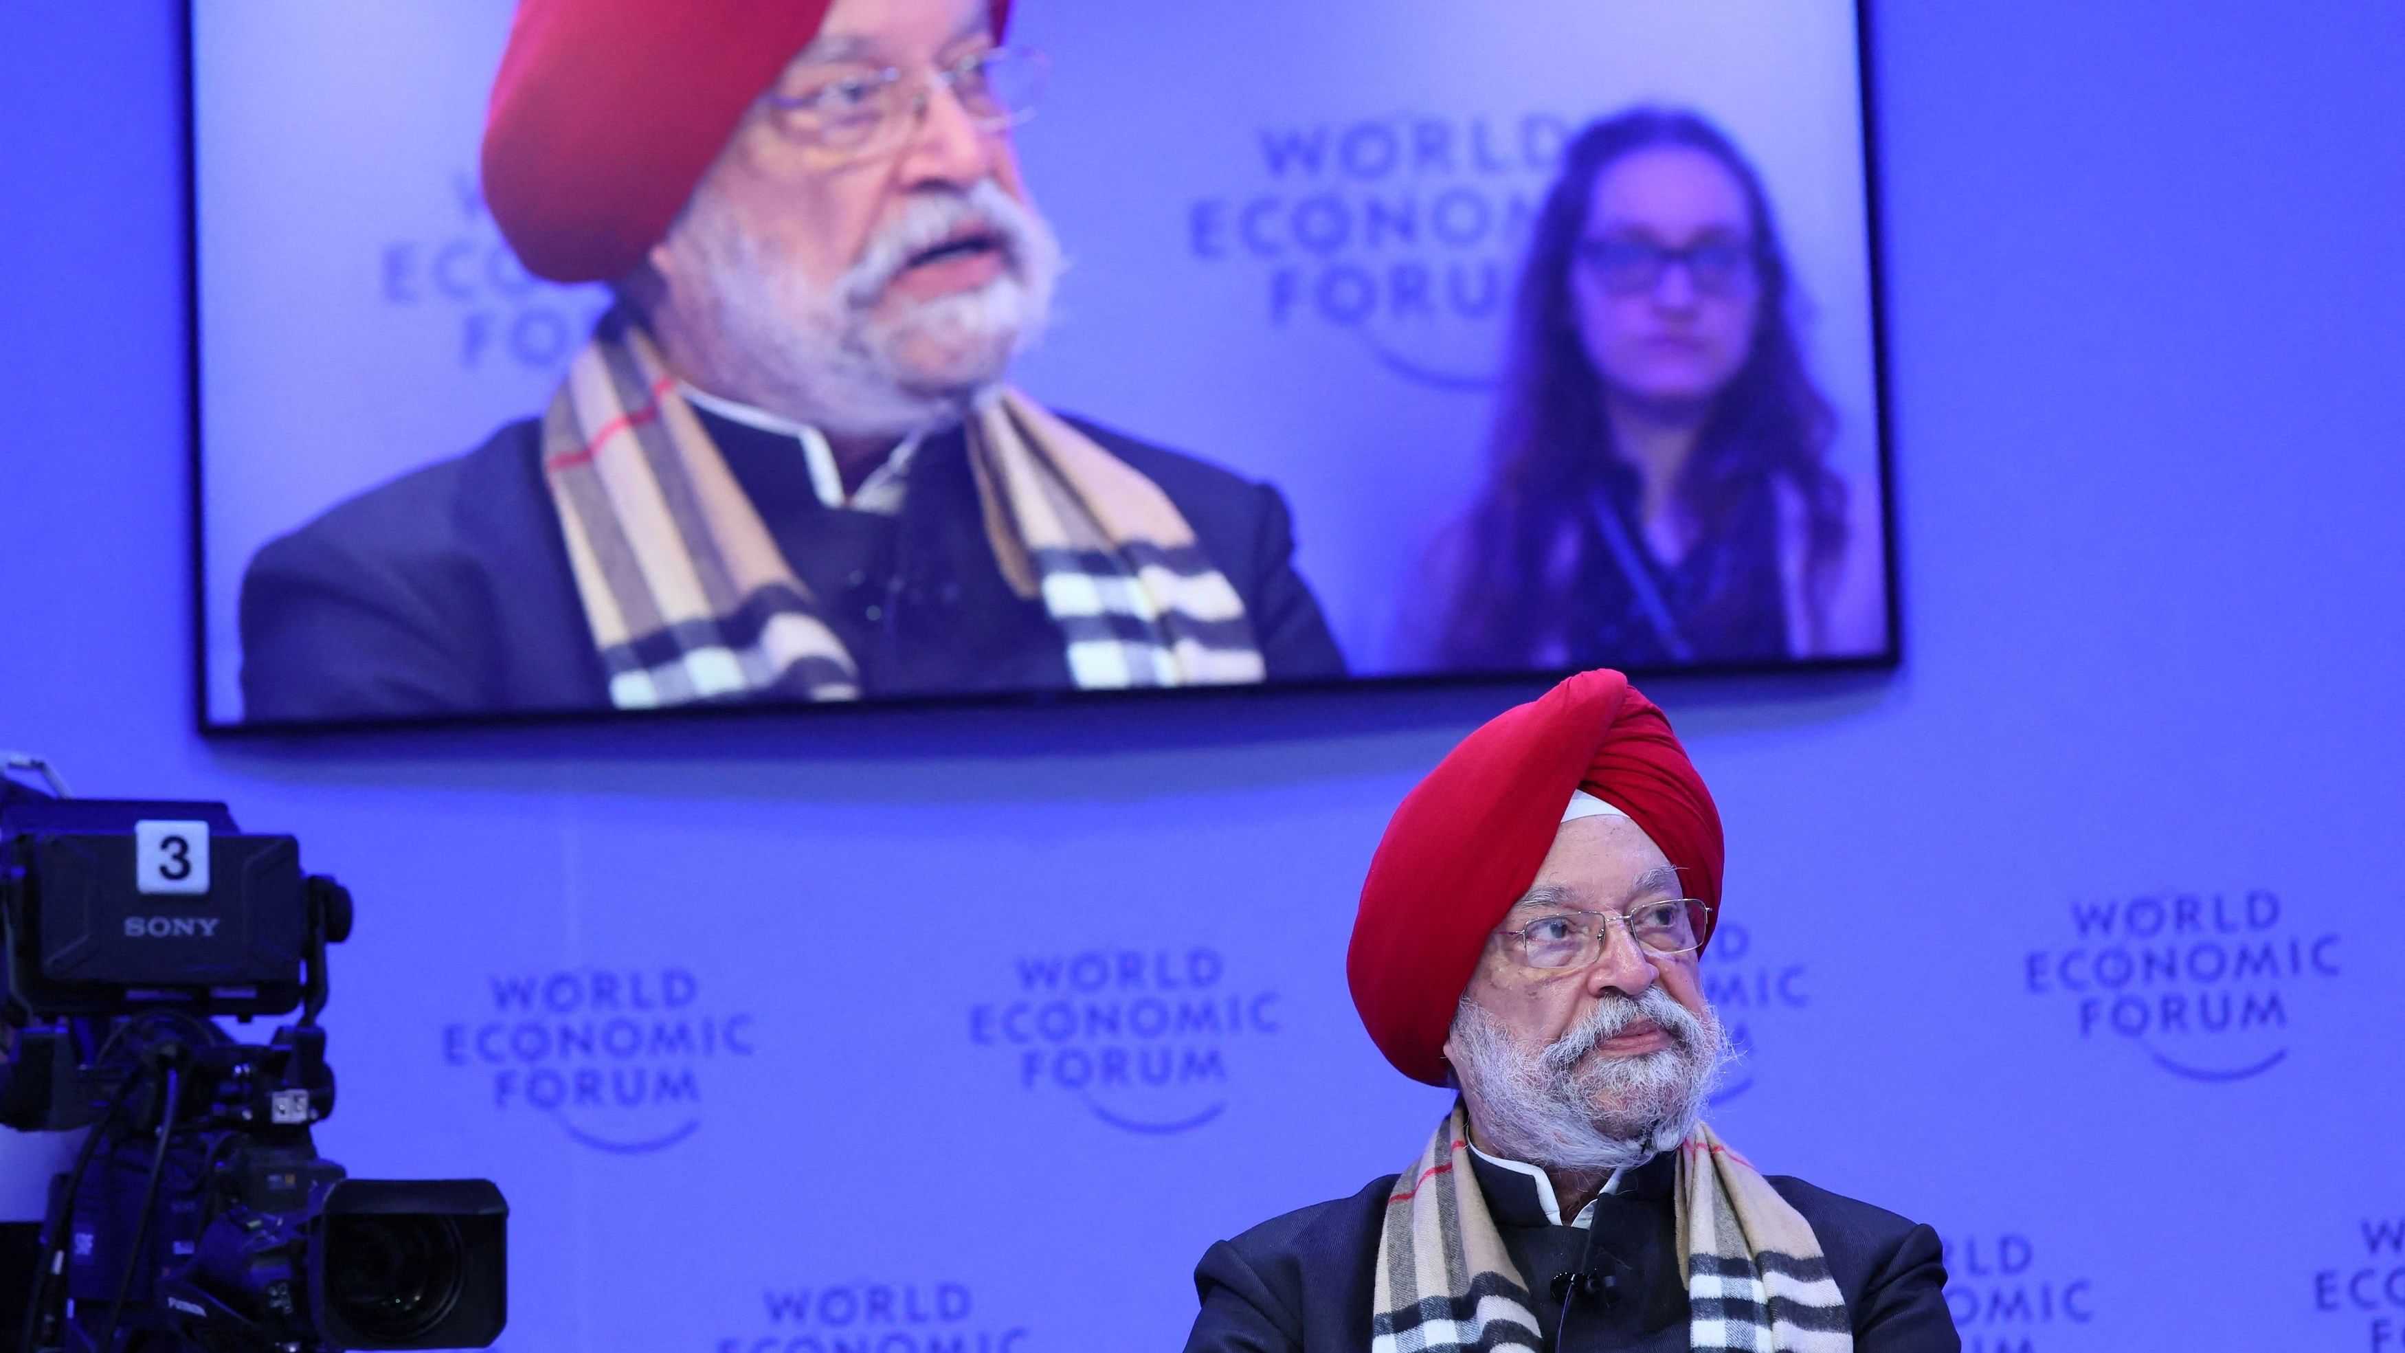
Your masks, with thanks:
[[(1871, 17), (1907, 661), (1655, 690), (1717, 1117), (1936, 1223), (1970, 1348), (2400, 1348), (2405, 12)], [(1417, 1149), (1352, 892), (1522, 690), (195, 738), (176, 62), (0, 7), (0, 743), (356, 889), (322, 1144), (503, 1182), (507, 1348), (1174, 1346)]]

